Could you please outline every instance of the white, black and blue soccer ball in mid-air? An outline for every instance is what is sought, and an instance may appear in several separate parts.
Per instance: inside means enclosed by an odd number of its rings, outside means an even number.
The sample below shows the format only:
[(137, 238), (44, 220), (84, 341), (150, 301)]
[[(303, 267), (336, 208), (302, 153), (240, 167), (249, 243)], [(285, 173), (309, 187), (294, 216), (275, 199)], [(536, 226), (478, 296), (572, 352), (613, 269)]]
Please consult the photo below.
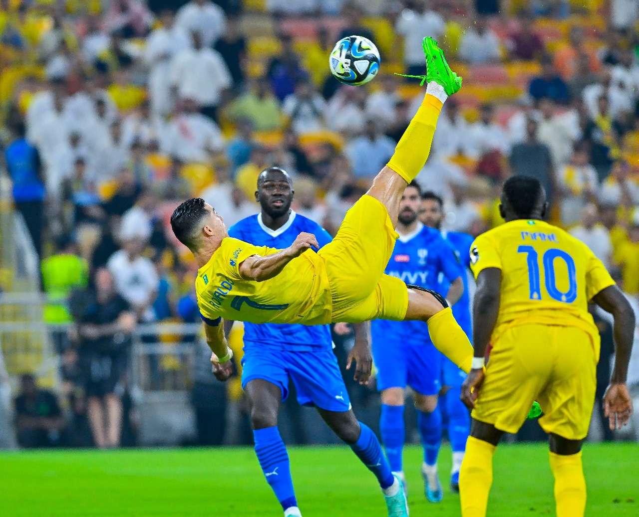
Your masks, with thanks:
[(358, 86), (373, 80), (380, 71), (380, 61), (380, 51), (373, 41), (362, 36), (348, 36), (335, 43), (328, 66), (339, 82)]

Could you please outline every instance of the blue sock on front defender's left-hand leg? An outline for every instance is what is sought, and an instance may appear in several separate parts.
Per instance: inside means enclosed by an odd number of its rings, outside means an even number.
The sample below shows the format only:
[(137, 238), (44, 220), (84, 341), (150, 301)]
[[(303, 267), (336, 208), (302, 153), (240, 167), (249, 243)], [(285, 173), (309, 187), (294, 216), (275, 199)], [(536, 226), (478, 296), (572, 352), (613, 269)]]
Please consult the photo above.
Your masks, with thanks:
[(259, 466), (262, 467), (266, 483), (270, 484), (282, 508), (286, 510), (291, 506), (297, 506), (288, 453), (277, 427), (256, 429), (253, 431), (253, 439), (255, 453), (258, 455)]

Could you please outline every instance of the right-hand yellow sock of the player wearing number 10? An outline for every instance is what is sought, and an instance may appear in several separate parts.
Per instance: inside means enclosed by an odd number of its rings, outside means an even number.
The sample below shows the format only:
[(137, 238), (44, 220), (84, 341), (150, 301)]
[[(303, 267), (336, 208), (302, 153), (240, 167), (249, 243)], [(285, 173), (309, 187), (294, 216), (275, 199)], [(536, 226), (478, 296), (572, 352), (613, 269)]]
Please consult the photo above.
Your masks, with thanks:
[(586, 480), (577, 454), (550, 453), (550, 470), (555, 476), (557, 517), (580, 517), (586, 508)]

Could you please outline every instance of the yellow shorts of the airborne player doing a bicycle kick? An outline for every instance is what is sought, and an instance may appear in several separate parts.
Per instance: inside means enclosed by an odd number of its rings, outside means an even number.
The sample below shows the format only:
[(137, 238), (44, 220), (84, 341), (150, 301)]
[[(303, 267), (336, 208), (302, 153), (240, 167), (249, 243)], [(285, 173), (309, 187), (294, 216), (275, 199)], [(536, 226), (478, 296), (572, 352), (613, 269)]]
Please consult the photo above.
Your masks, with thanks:
[(386, 207), (374, 197), (363, 195), (346, 213), (335, 239), (318, 253), (326, 264), (332, 321), (403, 320), (406, 284), (384, 274), (397, 237)]

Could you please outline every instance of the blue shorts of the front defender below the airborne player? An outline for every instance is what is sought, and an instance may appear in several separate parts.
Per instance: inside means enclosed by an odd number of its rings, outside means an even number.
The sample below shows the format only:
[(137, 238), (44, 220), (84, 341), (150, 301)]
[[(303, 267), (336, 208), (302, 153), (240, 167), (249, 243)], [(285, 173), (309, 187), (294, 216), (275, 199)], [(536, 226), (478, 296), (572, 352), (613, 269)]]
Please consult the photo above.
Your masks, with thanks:
[(351, 408), (337, 357), (330, 348), (291, 352), (262, 343), (245, 343), (242, 367), (242, 388), (251, 380), (261, 378), (279, 387), (284, 401), (288, 397), (290, 378), (301, 405), (335, 412)]

